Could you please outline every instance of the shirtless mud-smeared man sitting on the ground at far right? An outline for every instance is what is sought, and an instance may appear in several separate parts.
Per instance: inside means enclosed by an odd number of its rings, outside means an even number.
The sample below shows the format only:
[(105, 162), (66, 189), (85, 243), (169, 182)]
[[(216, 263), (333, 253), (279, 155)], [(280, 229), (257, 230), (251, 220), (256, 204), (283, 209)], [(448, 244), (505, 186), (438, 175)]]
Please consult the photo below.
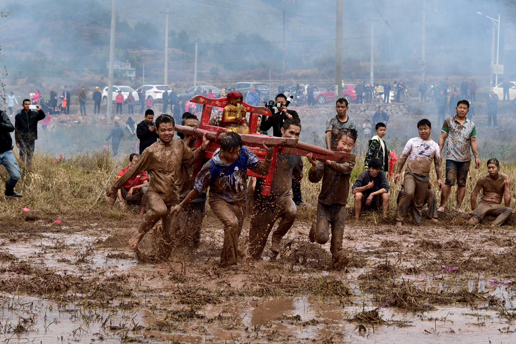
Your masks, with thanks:
[[(511, 214), (511, 192), (510, 179), (507, 174), (500, 173), (500, 163), (496, 159), (487, 161), (488, 174), (478, 179), (473, 192), (471, 193), (471, 209), (468, 215), (473, 215), (470, 219), (471, 225), (479, 224), (486, 215), (497, 216), (491, 227), (502, 225), (507, 221)], [(477, 195), (482, 190), (482, 198), (476, 204)], [(502, 198), (505, 207), (501, 204)]]

